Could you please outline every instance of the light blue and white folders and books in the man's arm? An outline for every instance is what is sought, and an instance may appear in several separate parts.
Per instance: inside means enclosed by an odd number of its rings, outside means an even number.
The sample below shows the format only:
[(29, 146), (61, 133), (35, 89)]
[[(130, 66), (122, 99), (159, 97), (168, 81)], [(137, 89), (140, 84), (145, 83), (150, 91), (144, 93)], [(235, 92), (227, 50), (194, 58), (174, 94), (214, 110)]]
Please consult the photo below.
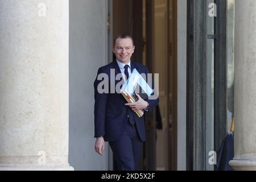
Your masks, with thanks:
[[(133, 69), (133, 72), (131, 72), (130, 77), (126, 80), (125, 84), (123, 84), (120, 91), (128, 103), (137, 102), (138, 98), (136, 93), (139, 94), (143, 100), (147, 100), (153, 92), (137, 69)], [(144, 114), (143, 110), (135, 111), (135, 113), (138, 117), (142, 117)]]

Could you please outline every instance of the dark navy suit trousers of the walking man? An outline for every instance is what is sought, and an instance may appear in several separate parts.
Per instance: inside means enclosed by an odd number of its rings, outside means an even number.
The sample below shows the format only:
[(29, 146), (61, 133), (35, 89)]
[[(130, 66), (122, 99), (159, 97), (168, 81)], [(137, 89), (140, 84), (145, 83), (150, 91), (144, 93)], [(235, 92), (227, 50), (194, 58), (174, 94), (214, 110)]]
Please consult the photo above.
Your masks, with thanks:
[(135, 125), (128, 121), (125, 131), (115, 142), (109, 142), (118, 171), (134, 171), (142, 157), (143, 142)]

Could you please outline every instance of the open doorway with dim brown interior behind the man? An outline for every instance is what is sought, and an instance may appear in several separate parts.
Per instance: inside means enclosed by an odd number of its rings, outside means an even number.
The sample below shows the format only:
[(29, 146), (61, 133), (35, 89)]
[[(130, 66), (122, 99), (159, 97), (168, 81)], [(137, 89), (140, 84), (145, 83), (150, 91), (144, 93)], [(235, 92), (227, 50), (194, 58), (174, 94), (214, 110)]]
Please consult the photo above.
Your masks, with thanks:
[[(132, 60), (159, 73), (159, 111), (146, 117), (146, 142), (140, 169), (177, 168), (177, 0), (112, 0), (113, 38), (134, 38)], [(125, 8), (124, 8), (125, 7)]]

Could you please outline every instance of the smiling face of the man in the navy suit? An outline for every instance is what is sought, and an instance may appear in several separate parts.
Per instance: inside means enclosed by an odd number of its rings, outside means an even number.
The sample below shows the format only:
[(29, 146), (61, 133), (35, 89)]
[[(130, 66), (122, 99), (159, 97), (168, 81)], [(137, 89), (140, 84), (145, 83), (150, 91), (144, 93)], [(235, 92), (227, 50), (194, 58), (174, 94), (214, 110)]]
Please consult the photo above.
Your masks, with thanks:
[(113, 52), (119, 61), (127, 64), (131, 59), (131, 55), (133, 55), (134, 48), (135, 46), (133, 46), (133, 41), (130, 38), (118, 38), (115, 41)]

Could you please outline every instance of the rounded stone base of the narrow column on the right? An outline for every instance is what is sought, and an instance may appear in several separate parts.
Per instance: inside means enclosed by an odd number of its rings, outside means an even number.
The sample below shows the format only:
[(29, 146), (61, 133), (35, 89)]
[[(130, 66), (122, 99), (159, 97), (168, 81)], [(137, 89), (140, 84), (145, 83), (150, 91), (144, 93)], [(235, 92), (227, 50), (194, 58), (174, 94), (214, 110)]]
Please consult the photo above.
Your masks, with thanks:
[(229, 165), (236, 171), (256, 171), (255, 159), (234, 159), (229, 161)]

